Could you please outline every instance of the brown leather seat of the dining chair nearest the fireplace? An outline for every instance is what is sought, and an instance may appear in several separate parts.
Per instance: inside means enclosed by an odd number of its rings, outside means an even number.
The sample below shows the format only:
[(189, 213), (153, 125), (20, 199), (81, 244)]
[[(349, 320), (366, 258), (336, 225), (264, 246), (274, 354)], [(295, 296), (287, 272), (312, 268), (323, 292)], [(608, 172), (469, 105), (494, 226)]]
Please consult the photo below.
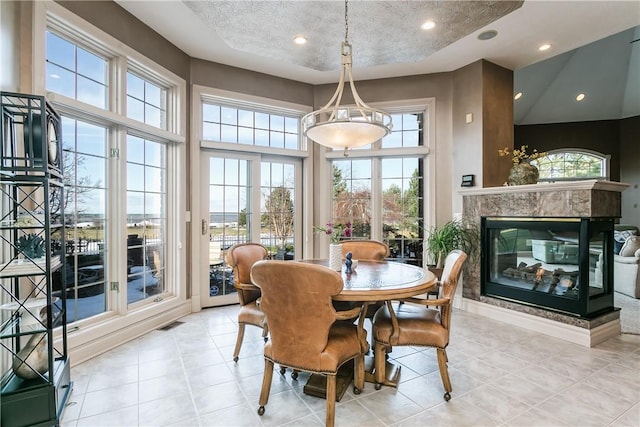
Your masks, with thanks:
[(449, 331), (442, 326), (440, 310), (401, 304), (395, 310), (399, 332), (393, 335), (393, 324), (389, 309), (381, 307), (373, 317), (376, 325), (374, 340), (386, 345), (418, 345), (445, 347)]

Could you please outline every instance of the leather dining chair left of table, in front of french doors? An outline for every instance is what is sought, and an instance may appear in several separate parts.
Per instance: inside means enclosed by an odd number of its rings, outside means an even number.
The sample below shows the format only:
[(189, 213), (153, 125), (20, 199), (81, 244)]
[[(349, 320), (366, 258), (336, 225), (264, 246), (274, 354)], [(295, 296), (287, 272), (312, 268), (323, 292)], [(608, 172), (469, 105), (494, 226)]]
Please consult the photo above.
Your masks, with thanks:
[(260, 289), (251, 283), (251, 267), (257, 261), (267, 258), (267, 249), (258, 243), (238, 243), (226, 254), (227, 264), (233, 269), (233, 286), (238, 293), (240, 311), (238, 312), (238, 337), (233, 350), (233, 361), (238, 361), (240, 348), (244, 339), (246, 325), (262, 329), (262, 338), (267, 341), (269, 328), (264, 312), (258, 305)]

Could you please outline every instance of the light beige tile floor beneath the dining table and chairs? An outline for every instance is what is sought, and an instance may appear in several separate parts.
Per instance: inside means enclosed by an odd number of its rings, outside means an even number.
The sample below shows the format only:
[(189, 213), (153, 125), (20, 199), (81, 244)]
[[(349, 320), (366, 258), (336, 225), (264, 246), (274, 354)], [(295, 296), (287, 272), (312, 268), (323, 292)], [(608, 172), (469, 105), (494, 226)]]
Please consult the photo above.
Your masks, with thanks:
[[(313, 426), (325, 401), (308, 378), (274, 373), (257, 415), (262, 340), (247, 327), (232, 360), (237, 306), (191, 314), (72, 368), (64, 426)], [(640, 335), (595, 348), (455, 311), (448, 349), (452, 398), (444, 402), (435, 352), (397, 347), (397, 389), (350, 387), (337, 426), (640, 426)], [(277, 372), (277, 370), (276, 370)]]

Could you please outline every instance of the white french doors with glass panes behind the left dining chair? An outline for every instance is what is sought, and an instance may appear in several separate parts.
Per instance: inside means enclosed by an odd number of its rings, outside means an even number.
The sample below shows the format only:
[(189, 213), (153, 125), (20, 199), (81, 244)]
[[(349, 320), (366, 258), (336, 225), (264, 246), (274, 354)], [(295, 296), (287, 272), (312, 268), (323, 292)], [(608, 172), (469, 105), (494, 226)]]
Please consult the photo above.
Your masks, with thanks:
[(200, 295), (202, 307), (211, 307), (238, 302), (225, 259), (234, 244), (261, 243), (272, 258), (294, 257), (302, 172), (299, 160), (260, 154), (203, 151), (201, 162)]

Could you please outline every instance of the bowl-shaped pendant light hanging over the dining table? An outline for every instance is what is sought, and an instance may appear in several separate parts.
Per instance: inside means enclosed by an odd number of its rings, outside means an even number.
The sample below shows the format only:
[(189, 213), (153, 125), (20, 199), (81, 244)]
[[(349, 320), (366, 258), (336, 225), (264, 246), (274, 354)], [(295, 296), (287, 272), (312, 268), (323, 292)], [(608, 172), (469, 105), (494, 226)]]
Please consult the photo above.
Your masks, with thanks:
[[(362, 101), (353, 84), (351, 44), (349, 43), (348, 0), (344, 2), (344, 41), (342, 70), (338, 88), (331, 100), (319, 110), (302, 118), (303, 133), (318, 144), (347, 149), (372, 144), (391, 132), (391, 116), (369, 107)], [(344, 83), (349, 80), (355, 105), (340, 105)]]

